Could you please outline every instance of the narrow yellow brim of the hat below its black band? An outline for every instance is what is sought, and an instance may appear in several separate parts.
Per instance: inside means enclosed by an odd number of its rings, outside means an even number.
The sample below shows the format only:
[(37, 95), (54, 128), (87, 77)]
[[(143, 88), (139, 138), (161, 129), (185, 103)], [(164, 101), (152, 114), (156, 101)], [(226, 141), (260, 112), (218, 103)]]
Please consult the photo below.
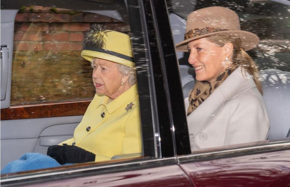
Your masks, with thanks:
[(134, 62), (131, 62), (131, 61), (126, 60), (126, 59), (122, 59), (122, 58), (114, 56), (114, 55), (103, 53), (103, 52), (97, 52), (97, 51), (91, 51), (91, 50), (82, 50), (81, 56), (90, 62), (92, 62), (92, 59), (99, 58), (99, 59), (104, 59), (104, 60), (108, 60), (111, 62), (115, 62), (118, 64), (123, 64), (123, 65), (129, 66), (130, 68), (135, 67)]

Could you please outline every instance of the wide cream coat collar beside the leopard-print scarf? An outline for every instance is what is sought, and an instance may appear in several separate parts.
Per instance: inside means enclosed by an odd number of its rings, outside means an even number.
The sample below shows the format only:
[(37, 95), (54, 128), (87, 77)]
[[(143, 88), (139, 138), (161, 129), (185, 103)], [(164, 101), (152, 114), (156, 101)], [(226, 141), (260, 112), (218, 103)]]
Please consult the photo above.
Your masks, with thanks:
[(188, 130), (195, 137), (220, 113), (224, 103), (243, 91), (256, 87), (252, 76), (238, 67), (214, 92), (187, 117)]

